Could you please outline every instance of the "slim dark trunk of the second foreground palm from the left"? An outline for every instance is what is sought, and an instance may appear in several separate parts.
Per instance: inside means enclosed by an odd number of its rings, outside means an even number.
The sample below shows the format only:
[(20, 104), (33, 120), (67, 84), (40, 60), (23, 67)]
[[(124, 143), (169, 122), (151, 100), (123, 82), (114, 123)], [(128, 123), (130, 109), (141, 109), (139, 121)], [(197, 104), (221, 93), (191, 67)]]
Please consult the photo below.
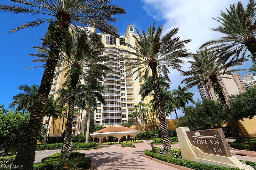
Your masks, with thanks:
[[(72, 71), (71, 71), (72, 72)], [(74, 114), (74, 103), (75, 103), (75, 94), (76, 94), (76, 85), (79, 80), (79, 75), (70, 76), (70, 83), (71, 83), (71, 92), (70, 92), (70, 99), (68, 102), (68, 118), (66, 122), (66, 131), (64, 137), (64, 144), (63, 150), (61, 153), (61, 158), (68, 161), (70, 157), (69, 145), (72, 138), (72, 124), (73, 124), (73, 114)]]

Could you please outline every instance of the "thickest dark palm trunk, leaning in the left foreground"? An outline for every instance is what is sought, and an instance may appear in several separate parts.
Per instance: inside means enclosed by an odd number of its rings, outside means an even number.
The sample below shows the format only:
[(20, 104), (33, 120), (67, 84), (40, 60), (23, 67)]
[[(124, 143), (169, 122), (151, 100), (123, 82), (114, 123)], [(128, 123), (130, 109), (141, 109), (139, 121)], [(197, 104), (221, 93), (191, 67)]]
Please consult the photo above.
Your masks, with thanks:
[(54, 70), (57, 65), (60, 50), (63, 44), (63, 39), (68, 32), (70, 18), (67, 15), (58, 14), (54, 24), (48, 28), (50, 37), (50, 52), (44, 69), (44, 74), (41, 80), (38, 94), (35, 103), (30, 112), (30, 118), (27, 129), (25, 130), (24, 137), (20, 149), (17, 153), (16, 159), (13, 162), (14, 167), (23, 165), (26, 170), (33, 169), (33, 163), (36, 156), (36, 143), (37, 136), (40, 133), (40, 126), (45, 115), (45, 106), (47, 103), (48, 95), (51, 91), (52, 79), (54, 77)]

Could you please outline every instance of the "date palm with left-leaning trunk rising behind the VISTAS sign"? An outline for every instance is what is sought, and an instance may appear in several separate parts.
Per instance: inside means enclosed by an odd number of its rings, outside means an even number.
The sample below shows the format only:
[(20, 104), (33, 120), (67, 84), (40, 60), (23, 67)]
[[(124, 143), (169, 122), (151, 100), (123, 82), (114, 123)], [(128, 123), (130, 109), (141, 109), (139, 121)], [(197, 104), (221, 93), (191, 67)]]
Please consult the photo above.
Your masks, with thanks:
[[(182, 80), (181, 83), (186, 83), (188, 88), (195, 85), (202, 86), (207, 85), (210, 89), (212, 87), (213, 91), (216, 92), (220, 98), (220, 102), (227, 114), (230, 126), (234, 132), (236, 141), (242, 141), (239, 134), (239, 129), (236, 126), (236, 122), (232, 117), (230, 110), (228, 108), (228, 101), (224, 96), (224, 90), (220, 85), (221, 78), (229, 78), (225, 75), (232, 75), (232, 72), (241, 71), (244, 69), (230, 69), (229, 67), (234, 67), (242, 64), (243, 59), (237, 59), (223, 64), (223, 61), (216, 59), (212, 61), (214, 54), (207, 51), (206, 49), (197, 51), (197, 55), (193, 57), (195, 61), (191, 61), (191, 70), (183, 72), (181, 75), (189, 76)], [(221, 76), (221, 77), (220, 77)]]

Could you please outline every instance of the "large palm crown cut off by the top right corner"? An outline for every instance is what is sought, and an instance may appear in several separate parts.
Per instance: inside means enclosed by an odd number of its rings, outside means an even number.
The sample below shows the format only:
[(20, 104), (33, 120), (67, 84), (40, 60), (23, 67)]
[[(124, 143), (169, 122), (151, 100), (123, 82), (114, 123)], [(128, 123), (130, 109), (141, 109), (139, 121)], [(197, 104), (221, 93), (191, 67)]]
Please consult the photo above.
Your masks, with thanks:
[[(249, 51), (253, 63), (256, 62), (256, 1), (249, 0), (244, 8), (242, 2), (230, 4), (227, 12), (221, 11), (220, 17), (213, 18), (220, 23), (212, 31), (224, 33), (220, 39), (214, 39), (204, 43), (200, 49), (211, 46), (209, 50), (217, 53), (219, 59), (235, 60), (240, 56), (244, 59)], [(244, 60), (242, 60), (244, 61)]]

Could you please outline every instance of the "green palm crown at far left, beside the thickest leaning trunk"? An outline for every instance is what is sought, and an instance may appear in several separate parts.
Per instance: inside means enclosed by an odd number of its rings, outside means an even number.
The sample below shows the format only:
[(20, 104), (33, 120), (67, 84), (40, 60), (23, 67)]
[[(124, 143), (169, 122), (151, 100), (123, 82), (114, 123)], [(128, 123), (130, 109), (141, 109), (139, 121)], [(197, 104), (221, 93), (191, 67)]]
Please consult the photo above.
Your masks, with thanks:
[(20, 92), (12, 97), (13, 101), (10, 103), (9, 107), (16, 107), (17, 111), (22, 110), (23, 113), (25, 112), (25, 110), (28, 110), (30, 112), (36, 100), (38, 85), (19, 85), (18, 89), (23, 92)]

